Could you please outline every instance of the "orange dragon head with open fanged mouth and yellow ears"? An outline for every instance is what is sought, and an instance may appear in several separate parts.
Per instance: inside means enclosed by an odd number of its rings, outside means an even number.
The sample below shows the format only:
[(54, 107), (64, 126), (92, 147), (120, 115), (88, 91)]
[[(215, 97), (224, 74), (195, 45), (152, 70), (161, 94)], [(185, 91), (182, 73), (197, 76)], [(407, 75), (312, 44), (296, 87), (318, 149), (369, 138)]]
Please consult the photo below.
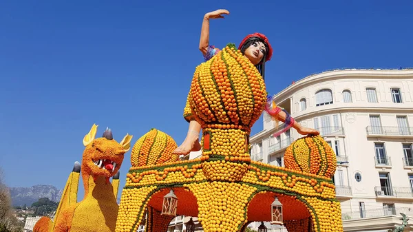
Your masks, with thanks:
[(122, 165), (124, 155), (129, 151), (133, 136), (127, 134), (120, 143), (116, 142), (112, 136), (111, 129), (107, 128), (102, 138), (96, 138), (98, 126), (93, 125), (89, 133), (83, 138), (82, 169), (85, 173), (93, 176), (94, 180), (98, 176), (109, 178), (114, 176)]

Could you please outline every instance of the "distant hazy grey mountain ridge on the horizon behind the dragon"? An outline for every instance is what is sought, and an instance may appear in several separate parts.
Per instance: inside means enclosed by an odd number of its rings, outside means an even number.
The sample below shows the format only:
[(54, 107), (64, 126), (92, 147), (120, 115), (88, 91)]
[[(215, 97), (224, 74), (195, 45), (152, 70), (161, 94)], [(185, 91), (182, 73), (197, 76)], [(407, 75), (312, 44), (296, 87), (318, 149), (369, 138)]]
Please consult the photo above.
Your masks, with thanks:
[(13, 206), (23, 206), (23, 204), (26, 204), (30, 207), (39, 198), (49, 198), (49, 200), (59, 202), (63, 193), (63, 190), (57, 189), (53, 185), (42, 184), (32, 187), (12, 187), (9, 189)]

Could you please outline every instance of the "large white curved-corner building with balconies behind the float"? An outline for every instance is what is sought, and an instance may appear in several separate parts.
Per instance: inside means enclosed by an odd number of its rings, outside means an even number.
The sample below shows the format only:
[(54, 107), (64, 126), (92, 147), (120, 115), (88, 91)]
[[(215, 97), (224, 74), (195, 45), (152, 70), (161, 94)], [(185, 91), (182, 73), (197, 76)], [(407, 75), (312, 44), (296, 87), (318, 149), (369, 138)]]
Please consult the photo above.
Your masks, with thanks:
[[(335, 150), (344, 231), (384, 232), (400, 224), (399, 213), (413, 216), (413, 70), (323, 72), (275, 99)], [(302, 136), (290, 129), (273, 138), (276, 130), (264, 113), (263, 130), (250, 138), (253, 160), (284, 166), (286, 147)]]

